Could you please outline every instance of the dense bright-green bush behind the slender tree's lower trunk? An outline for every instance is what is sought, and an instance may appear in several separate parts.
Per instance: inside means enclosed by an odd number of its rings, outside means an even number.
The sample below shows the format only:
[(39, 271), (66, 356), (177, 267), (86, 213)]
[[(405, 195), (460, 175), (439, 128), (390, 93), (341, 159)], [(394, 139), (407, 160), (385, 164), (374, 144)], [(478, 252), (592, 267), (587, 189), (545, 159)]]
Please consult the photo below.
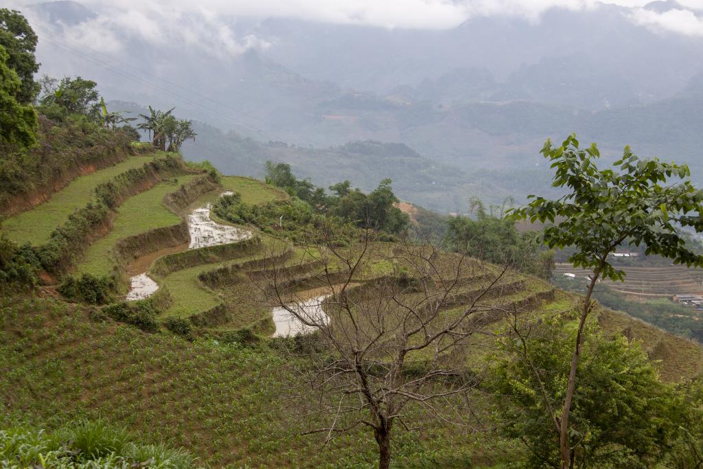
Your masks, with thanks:
[[(507, 335), (496, 345), (492, 385), (510, 404), (498, 406), (502, 431), (530, 450), (528, 467), (557, 467), (559, 433), (546, 406), (560, 407), (576, 330), (560, 319), (533, 326), (527, 338)], [(676, 435), (676, 396), (662, 384), (647, 354), (626, 338), (586, 329), (579, 361), (579, 392), (570, 429), (576, 467), (653, 467)]]

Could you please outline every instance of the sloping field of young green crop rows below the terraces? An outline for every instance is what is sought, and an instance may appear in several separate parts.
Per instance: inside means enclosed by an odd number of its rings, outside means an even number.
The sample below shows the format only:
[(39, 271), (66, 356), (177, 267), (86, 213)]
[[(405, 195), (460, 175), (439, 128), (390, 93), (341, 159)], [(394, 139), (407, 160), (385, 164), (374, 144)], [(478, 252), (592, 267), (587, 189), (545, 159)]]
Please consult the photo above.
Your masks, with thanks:
[[(16, 413), (46, 428), (100, 417), (143, 435), (141, 442), (188, 448), (201, 458), (197, 467), (375, 467), (375, 442), (366, 430), (323, 448), (301, 435), (323, 423), (301, 418), (302, 409), (291, 405), (300, 393), (290, 388), (289, 365), (303, 363), (285, 362), (268, 347), (145, 334), (89, 321), (83, 308), (50, 297), (0, 297), (0, 310), (3, 416)], [(482, 433), (469, 439), (431, 419), (396, 436), (402, 468), (465, 468), (473, 458), (475, 465), (492, 465), (516, 456), (514, 443)], [(150, 467), (158, 467), (161, 447), (153, 449)]]

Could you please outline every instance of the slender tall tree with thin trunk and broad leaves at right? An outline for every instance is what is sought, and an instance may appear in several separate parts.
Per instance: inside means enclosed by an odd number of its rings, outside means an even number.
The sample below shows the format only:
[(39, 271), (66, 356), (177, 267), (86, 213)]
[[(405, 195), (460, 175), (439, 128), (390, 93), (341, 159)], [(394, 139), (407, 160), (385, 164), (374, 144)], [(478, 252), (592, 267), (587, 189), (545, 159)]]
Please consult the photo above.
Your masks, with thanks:
[[(531, 195), (531, 202), (515, 210), (514, 216), (530, 221), (550, 221), (541, 241), (550, 248), (574, 248), (569, 262), (593, 269), (580, 312), (562, 408), (553, 412), (562, 468), (572, 468), (576, 457), (574, 450), (581, 440), (575, 436), (570, 417), (583, 328), (593, 309), (593, 288), (601, 277), (614, 281), (624, 278), (625, 272), (610, 264), (609, 255), (625, 242), (645, 245), (648, 255), (669, 257), (676, 264), (703, 266), (703, 257), (688, 249), (676, 229), (690, 226), (695, 231), (703, 231), (703, 192), (688, 181), (687, 166), (660, 162), (657, 158), (640, 160), (629, 147), (625, 148), (623, 157), (614, 162), (613, 169), (602, 170), (595, 164), (599, 157), (595, 143), (582, 150), (575, 134), (561, 146), (546, 141), (541, 153), (555, 168), (553, 186), (566, 187), (567, 194), (557, 200)], [(671, 177), (682, 181), (665, 185)], [(583, 380), (579, 383), (581, 387), (586, 385)]]

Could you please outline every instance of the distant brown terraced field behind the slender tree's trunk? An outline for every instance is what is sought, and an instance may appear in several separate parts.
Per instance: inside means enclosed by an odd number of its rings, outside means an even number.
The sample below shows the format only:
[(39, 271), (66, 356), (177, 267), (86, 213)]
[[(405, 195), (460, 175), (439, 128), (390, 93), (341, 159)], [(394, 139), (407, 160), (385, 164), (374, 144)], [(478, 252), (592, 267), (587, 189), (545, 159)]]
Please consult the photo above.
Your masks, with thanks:
[[(666, 266), (622, 266), (626, 272), (624, 282), (603, 280), (614, 290), (628, 295), (643, 297), (669, 297), (677, 293), (703, 295), (703, 269), (688, 268), (685, 265)], [(571, 264), (557, 264), (555, 276), (576, 274), (574, 281), (586, 281), (591, 274), (583, 269), (574, 269)]]

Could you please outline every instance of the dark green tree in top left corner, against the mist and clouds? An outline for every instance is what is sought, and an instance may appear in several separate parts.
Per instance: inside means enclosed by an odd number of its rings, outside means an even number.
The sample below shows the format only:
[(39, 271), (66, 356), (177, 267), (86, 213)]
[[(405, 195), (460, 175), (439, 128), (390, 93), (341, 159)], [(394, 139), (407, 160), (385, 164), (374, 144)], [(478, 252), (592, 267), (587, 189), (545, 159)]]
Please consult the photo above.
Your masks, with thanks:
[(39, 84), (34, 81), (34, 74), (39, 70), (34, 57), (37, 34), (19, 11), (0, 8), (0, 46), (8, 53), (7, 66), (15, 70), (20, 79), (15, 98), (20, 104), (33, 103), (39, 93)]

